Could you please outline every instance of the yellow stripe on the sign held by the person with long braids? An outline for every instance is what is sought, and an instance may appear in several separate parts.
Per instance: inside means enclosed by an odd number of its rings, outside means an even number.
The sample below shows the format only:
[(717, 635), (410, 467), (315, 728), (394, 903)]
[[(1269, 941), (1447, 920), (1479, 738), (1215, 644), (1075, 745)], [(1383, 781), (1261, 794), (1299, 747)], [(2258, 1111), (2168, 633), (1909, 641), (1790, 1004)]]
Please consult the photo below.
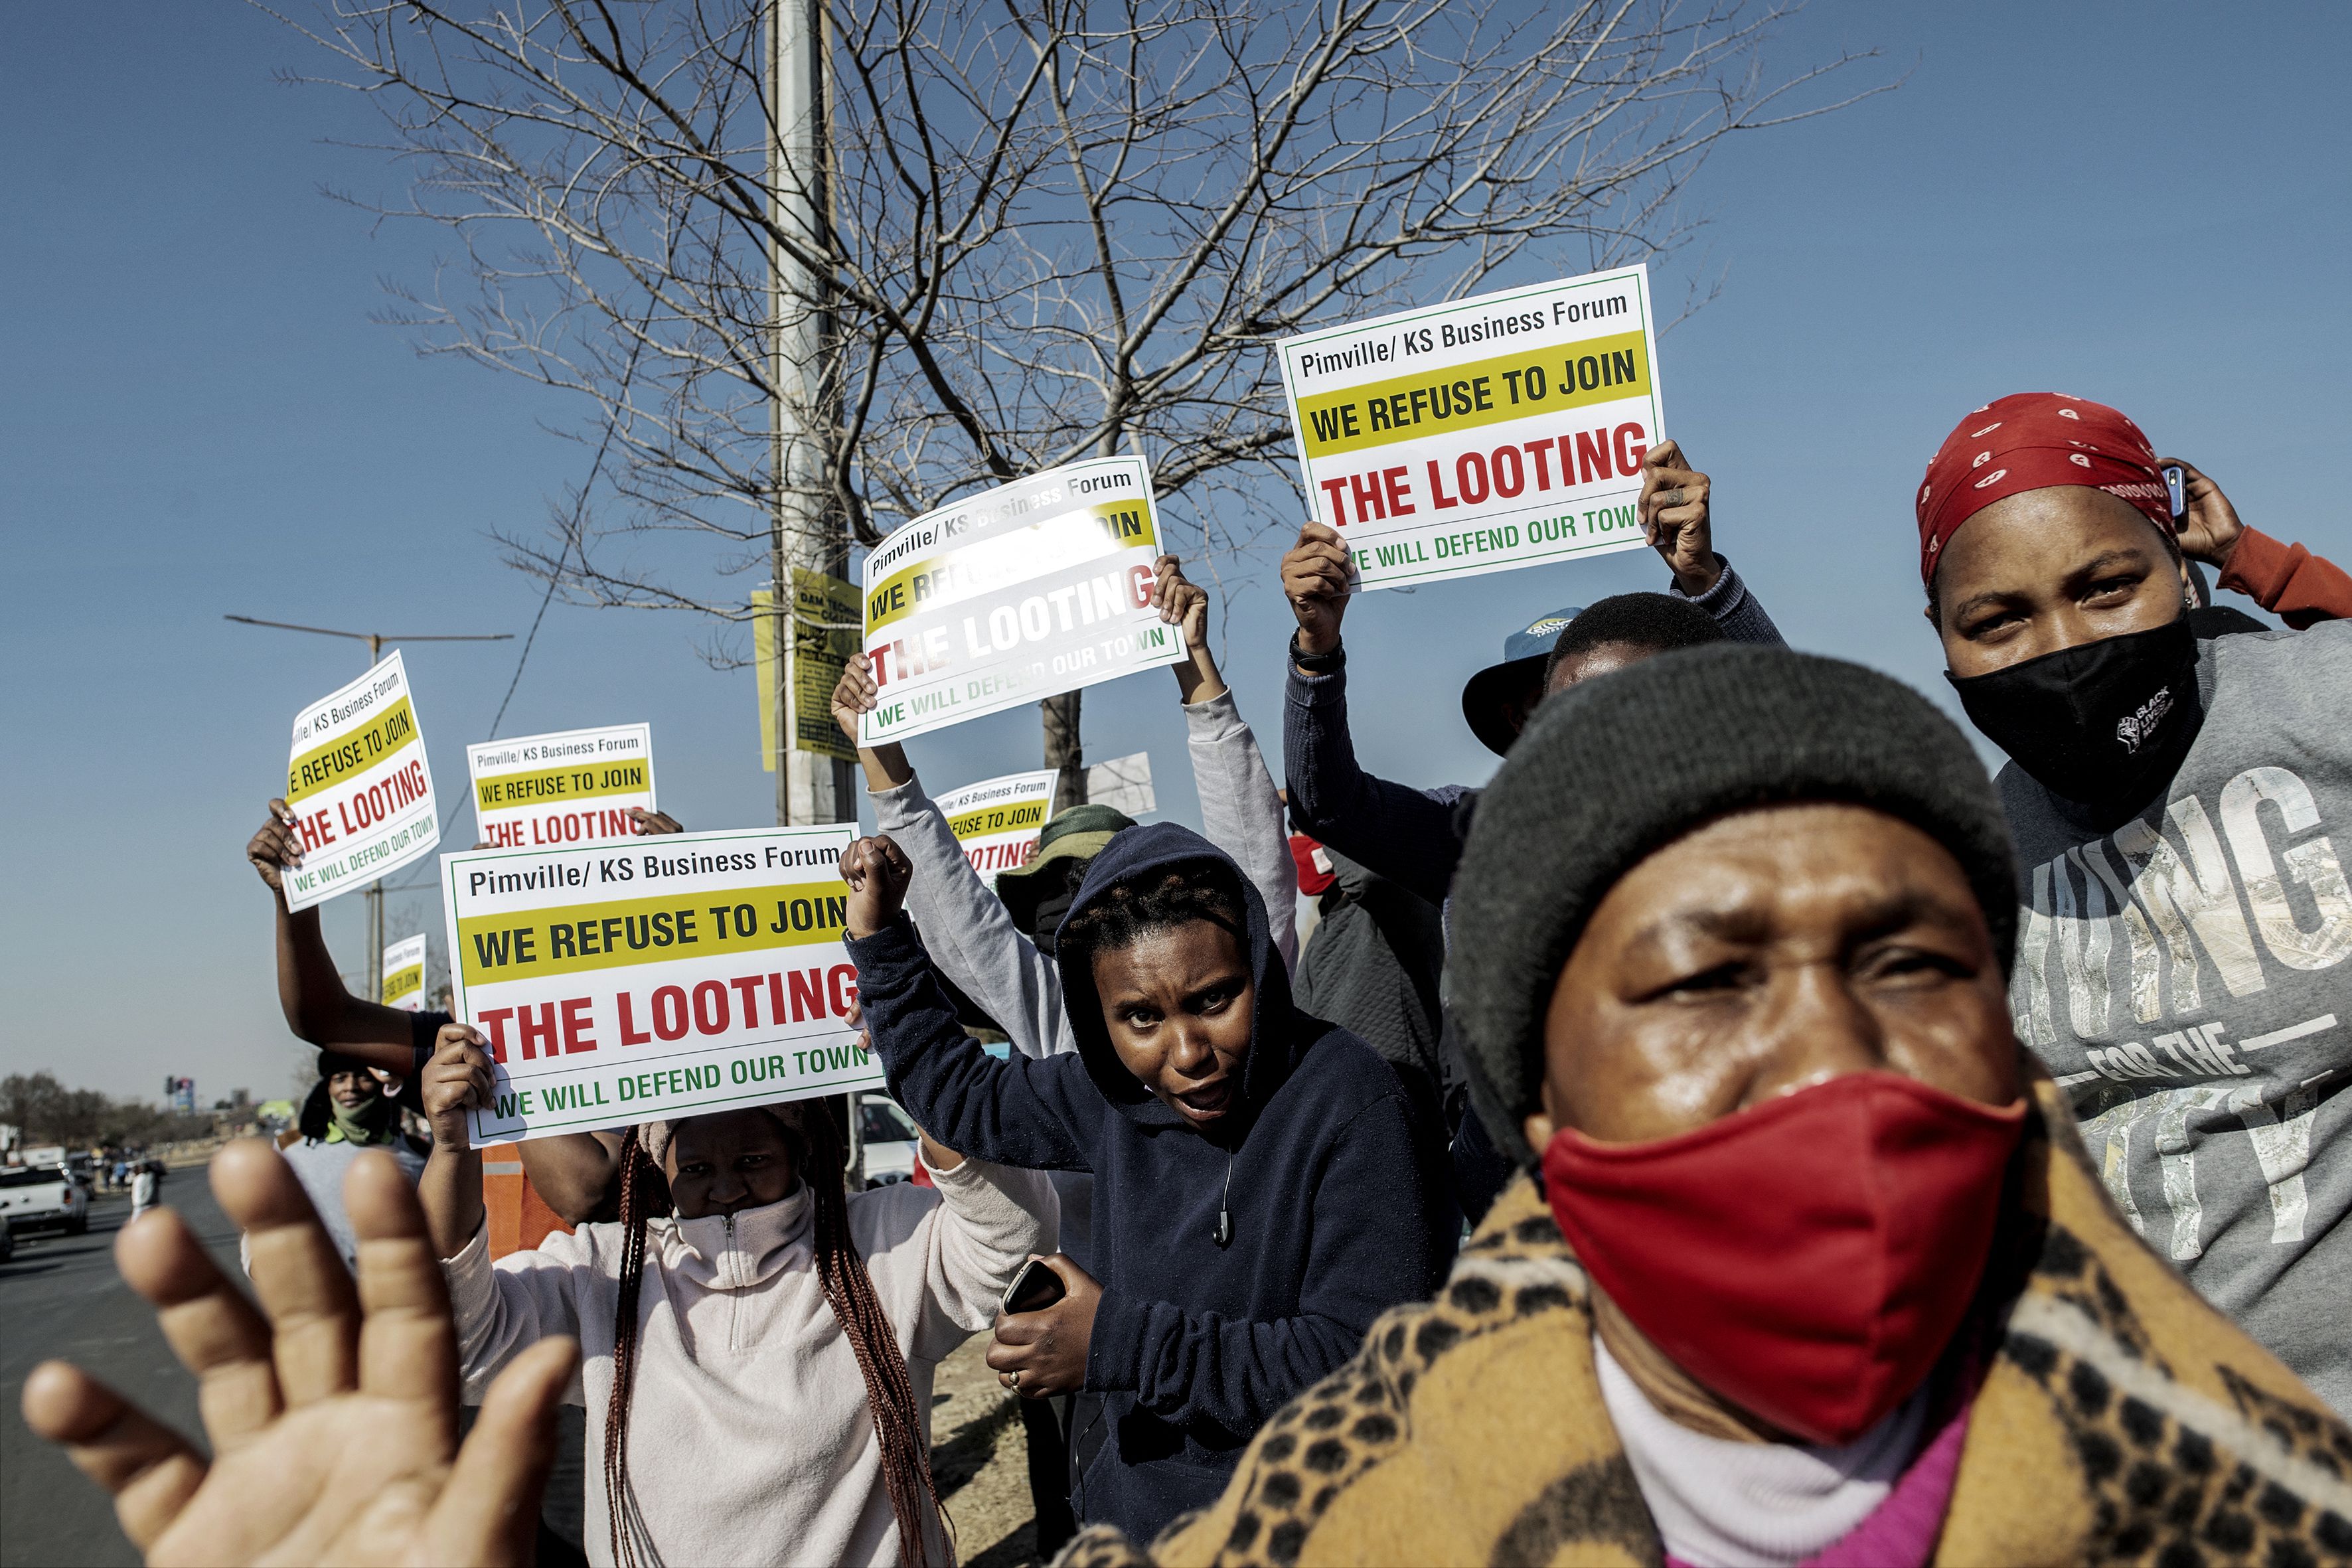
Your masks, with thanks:
[(628, 964), (837, 943), (847, 919), (849, 889), (840, 879), (724, 893), (607, 898), (461, 919), (456, 961), (466, 985), (496, 985)]

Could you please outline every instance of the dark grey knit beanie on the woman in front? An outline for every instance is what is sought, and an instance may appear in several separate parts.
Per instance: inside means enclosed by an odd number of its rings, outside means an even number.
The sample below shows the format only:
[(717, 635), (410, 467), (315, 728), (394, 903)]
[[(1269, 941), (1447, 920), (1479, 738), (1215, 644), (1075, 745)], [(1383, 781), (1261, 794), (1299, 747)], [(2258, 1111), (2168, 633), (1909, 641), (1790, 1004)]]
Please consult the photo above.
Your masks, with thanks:
[(1959, 860), (2006, 973), (2018, 891), (1985, 766), (1917, 691), (1788, 649), (1646, 658), (1548, 698), (1477, 804), (1454, 877), (1451, 1004), (1496, 1147), (1536, 1164), (1543, 1016), (1592, 910), (1653, 849), (1748, 806), (1853, 802)]

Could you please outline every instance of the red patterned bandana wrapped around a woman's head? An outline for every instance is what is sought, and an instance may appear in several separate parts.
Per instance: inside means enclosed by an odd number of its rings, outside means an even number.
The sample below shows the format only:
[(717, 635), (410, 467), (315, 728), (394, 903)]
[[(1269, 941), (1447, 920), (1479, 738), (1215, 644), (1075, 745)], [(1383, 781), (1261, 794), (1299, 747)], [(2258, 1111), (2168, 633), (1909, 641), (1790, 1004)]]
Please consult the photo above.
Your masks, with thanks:
[(2173, 534), (2157, 449), (2117, 409), (2063, 393), (2011, 393), (1976, 409), (1926, 465), (1919, 487), (1919, 581), (1936, 581), (1943, 548), (1994, 501), (2056, 484), (2089, 484), (2140, 508)]

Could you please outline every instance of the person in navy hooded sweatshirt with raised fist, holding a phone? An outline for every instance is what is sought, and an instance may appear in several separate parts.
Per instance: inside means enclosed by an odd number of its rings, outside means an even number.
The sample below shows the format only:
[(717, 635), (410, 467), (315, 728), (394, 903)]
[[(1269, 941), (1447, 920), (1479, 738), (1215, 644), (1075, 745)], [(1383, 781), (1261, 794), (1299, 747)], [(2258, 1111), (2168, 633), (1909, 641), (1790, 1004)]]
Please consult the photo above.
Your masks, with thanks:
[(1007, 1316), (988, 1363), (1028, 1399), (1098, 1396), (1073, 1505), (1148, 1535), (1430, 1291), (1458, 1220), (1397, 1074), (1291, 1006), (1265, 903), (1200, 835), (1152, 823), (1094, 856), (1054, 952), (1065, 1056), (997, 1060), (957, 1027), (901, 914), (910, 872), (889, 837), (842, 856), (873, 1048), (948, 1143), (1094, 1173), (1087, 1267), (1051, 1260), (1065, 1295)]

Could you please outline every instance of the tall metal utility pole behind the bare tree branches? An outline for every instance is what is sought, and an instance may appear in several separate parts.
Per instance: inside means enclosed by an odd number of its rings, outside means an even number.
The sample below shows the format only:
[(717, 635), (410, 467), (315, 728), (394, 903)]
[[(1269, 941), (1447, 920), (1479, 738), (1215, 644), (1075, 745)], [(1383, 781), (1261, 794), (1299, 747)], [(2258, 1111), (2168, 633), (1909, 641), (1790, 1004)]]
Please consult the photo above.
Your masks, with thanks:
[[(849, 531), (833, 489), (840, 383), (833, 376), (830, 254), (833, 186), (823, 0), (767, 0), (767, 190), (769, 320), (774, 322), (776, 522), (769, 578), (776, 616), (776, 820), (854, 823), (854, 764), (800, 750), (800, 616), (793, 569), (849, 574)], [(830, 715), (818, 715), (830, 722)], [(866, 1185), (858, 1095), (849, 1105), (849, 1190)]]

